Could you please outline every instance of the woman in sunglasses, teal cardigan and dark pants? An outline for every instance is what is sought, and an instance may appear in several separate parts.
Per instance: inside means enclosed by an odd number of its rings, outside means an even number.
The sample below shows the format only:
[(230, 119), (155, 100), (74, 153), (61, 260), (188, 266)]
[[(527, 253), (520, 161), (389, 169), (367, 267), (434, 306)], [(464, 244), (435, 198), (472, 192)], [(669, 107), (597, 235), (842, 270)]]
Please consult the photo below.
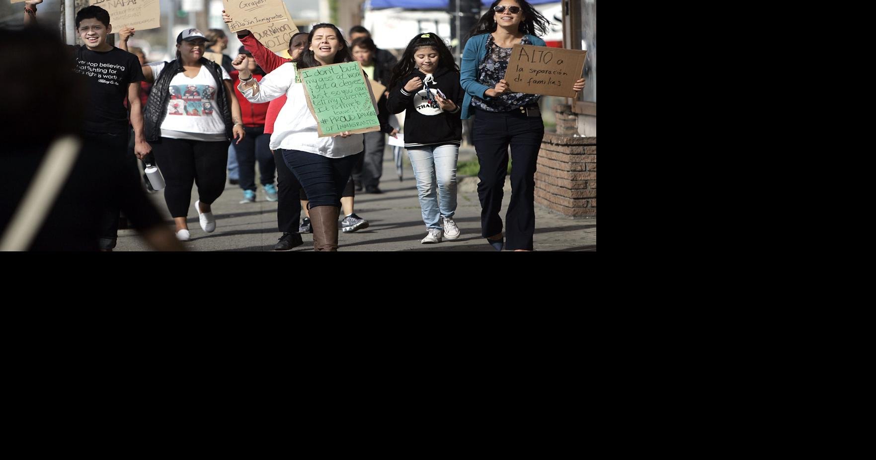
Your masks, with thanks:
[[(477, 152), (477, 196), (481, 202), (481, 236), (497, 251), (532, 251), (535, 232), (535, 162), (544, 123), (538, 95), (512, 93), (503, 78), (515, 44), (545, 46), (535, 36), (548, 32), (548, 19), (526, 0), (496, 0), (477, 25), (463, 51), (460, 85), (465, 91), (462, 118), (472, 115)], [(584, 80), (576, 81), (576, 91)], [(502, 232), (505, 175), (511, 145), (511, 203)], [(507, 243), (505, 243), (507, 237)]]

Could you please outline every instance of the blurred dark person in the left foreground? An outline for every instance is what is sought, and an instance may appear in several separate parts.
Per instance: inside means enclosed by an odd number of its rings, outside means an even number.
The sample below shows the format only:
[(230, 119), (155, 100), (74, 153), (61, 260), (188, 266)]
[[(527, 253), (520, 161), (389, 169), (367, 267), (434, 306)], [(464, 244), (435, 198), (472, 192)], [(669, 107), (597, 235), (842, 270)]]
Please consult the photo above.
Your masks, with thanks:
[[(16, 135), (7, 138), (0, 161), (0, 233), (4, 250), (98, 251), (104, 209), (116, 205), (131, 220), (146, 242), (159, 251), (183, 251), (147, 199), (131, 170), (119, 161), (107, 161), (100, 150), (82, 146), (86, 121), (88, 81), (71, 72), (74, 53), (56, 38), (56, 31), (36, 26), (23, 31), (0, 29), (0, 53), (15, 65), (0, 66), (0, 85), (6, 89), (0, 123)], [(60, 59), (59, 59), (60, 58)], [(26, 71), (27, 78), (22, 78)], [(51, 108), (52, 117), (39, 121), (22, 114)], [(44, 165), (47, 152), (62, 151), (63, 162)], [(20, 206), (29, 200), (39, 172), (54, 169), (57, 186), (39, 207)], [(137, 179), (136, 175), (133, 176)], [(9, 244), (10, 227), (21, 213), (36, 212), (25, 238)], [(42, 213), (45, 212), (45, 216)], [(26, 221), (26, 219), (25, 219)]]

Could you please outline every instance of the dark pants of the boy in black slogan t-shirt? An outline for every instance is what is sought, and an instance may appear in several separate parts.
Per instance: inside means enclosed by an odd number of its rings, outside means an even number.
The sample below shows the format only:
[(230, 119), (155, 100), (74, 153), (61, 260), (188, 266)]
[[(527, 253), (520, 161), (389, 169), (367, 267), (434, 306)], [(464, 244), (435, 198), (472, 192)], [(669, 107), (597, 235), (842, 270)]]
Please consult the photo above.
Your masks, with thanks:
[[(102, 161), (105, 162), (109, 170), (121, 173), (126, 181), (139, 184), (140, 177), (137, 168), (137, 157), (128, 155), (128, 133), (96, 134), (83, 132), (82, 141), (82, 149), (89, 152), (99, 152)], [(121, 192), (113, 190), (111, 193), (109, 202), (101, 215), (100, 249), (116, 247), (118, 237), (118, 218), (122, 207), (120, 202)]]

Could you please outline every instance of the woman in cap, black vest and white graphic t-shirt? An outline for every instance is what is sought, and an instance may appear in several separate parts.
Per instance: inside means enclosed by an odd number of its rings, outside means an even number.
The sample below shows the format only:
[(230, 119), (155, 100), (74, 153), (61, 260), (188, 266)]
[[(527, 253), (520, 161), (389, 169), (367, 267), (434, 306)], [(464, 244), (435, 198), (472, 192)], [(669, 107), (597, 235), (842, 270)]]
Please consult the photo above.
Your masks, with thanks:
[(201, 31), (186, 29), (176, 38), (176, 60), (143, 67), (146, 81), (154, 82), (146, 106), (146, 139), (164, 175), (167, 209), (181, 241), (190, 238), (186, 219), (193, 182), (201, 229), (215, 230), (210, 205), (225, 189), (228, 145), (244, 138), (231, 77), (202, 57), (206, 40)]

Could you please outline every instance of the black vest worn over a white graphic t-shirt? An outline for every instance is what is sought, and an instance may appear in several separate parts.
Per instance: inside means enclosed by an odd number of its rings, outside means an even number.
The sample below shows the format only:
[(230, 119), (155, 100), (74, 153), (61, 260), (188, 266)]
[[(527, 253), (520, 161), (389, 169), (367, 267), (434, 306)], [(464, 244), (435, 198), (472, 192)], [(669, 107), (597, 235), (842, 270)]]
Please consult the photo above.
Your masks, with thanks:
[[(225, 83), (222, 78), (222, 67), (212, 60), (201, 58), (201, 66), (206, 66), (208, 72), (213, 75), (216, 81), (216, 107), (222, 110), (222, 119), (225, 123), (225, 137), (228, 140), (234, 138), (231, 131), (234, 128), (234, 122), (231, 121), (231, 108), (228, 103), (228, 95), (225, 94)], [(186, 69), (182, 67), (179, 60), (165, 62), (165, 67), (161, 69), (161, 74), (155, 78), (155, 83), (152, 84), (152, 91), (149, 92), (149, 100), (146, 102), (145, 113), (145, 135), (146, 141), (157, 142), (161, 138), (161, 123), (164, 122), (164, 117), (167, 115), (167, 101), (170, 99), (170, 81), (173, 77)], [(234, 95), (231, 95), (234, 97)]]

